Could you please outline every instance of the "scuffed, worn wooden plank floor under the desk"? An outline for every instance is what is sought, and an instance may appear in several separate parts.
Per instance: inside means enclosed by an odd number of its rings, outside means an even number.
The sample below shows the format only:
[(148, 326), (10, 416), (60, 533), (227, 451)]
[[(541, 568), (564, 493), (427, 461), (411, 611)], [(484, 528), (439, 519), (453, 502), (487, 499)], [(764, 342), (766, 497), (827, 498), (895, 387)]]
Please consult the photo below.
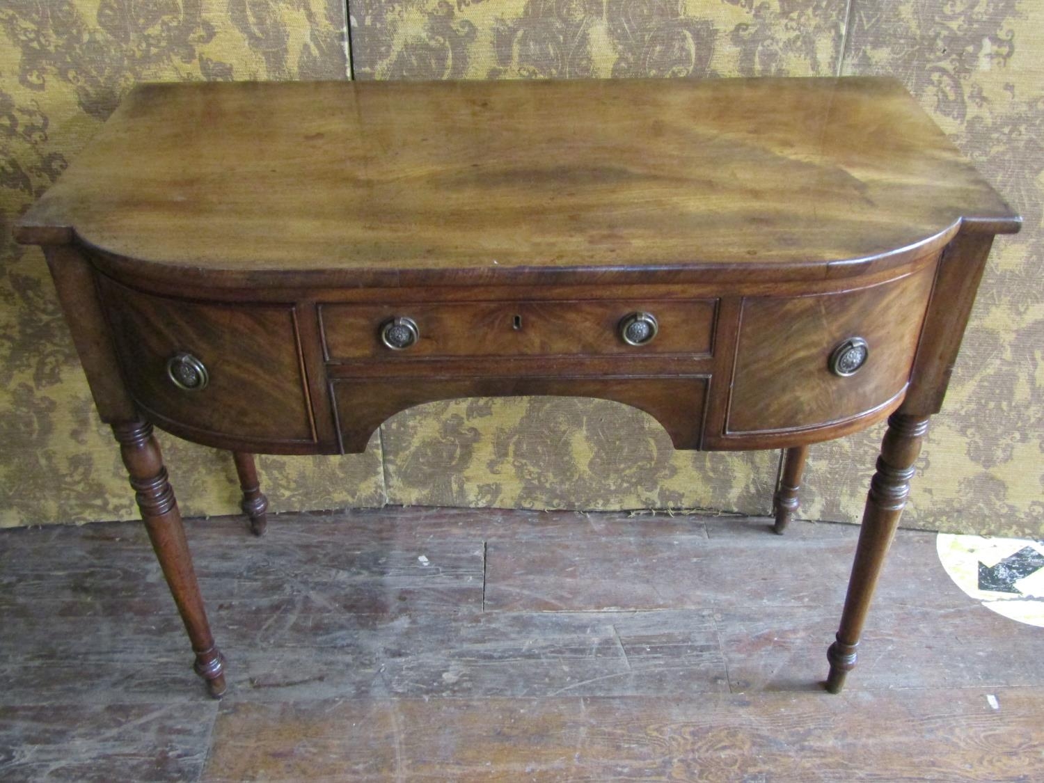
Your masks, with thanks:
[[(385, 508), (191, 521), (209, 701), (142, 527), (0, 531), (0, 780), (1044, 780), (1044, 630), (900, 531)], [(988, 703), (996, 698), (998, 709)]]

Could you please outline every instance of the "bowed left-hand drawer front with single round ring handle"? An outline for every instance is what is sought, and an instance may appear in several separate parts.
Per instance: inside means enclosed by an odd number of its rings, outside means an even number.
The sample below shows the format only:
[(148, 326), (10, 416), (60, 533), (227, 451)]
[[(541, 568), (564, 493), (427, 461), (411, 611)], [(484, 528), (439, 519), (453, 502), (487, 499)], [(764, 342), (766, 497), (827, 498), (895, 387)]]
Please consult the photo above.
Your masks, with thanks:
[(158, 425), (214, 445), (315, 442), (293, 305), (98, 288), (130, 394)]

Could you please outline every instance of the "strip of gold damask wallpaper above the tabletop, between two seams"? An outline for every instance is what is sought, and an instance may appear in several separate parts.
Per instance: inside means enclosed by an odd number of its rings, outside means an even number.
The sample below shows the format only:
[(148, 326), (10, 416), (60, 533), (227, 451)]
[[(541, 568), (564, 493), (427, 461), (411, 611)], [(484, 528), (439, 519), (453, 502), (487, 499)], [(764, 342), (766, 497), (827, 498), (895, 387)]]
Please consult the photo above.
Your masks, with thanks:
[(349, 3), (358, 78), (832, 73), (845, 7), (822, 0)]

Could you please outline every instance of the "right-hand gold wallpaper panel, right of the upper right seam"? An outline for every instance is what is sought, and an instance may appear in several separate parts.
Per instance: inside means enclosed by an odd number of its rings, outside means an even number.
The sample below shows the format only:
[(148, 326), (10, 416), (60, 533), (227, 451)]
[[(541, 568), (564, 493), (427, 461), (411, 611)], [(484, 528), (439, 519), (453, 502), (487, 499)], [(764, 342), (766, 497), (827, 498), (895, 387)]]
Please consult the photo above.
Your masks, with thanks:
[[(907, 516), (928, 527), (1044, 533), (1044, 85), (1021, 70), (1041, 56), (1044, 38), (1031, 10), (1018, 0), (853, 5), (845, 72), (902, 77), (1025, 221), (1019, 236), (995, 244), (932, 422)], [(1030, 31), (1036, 38), (1023, 37)], [(846, 446), (817, 450), (813, 487), (848, 485), (839, 475)], [(836, 514), (815, 495), (813, 513)]]

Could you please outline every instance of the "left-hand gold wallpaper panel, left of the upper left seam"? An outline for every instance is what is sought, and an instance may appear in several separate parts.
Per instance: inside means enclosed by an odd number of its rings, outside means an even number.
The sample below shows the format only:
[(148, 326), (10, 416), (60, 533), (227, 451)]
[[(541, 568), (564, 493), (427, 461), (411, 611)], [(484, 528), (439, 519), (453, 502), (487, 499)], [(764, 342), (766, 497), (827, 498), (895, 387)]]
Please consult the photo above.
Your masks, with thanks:
[[(10, 237), (142, 80), (345, 78), (336, 0), (9, 0), (0, 5), (0, 525), (125, 518), (134, 498), (98, 421), (40, 252)], [(236, 508), (227, 454), (161, 437), (182, 506)], [(282, 507), (383, 501), (379, 449), (262, 458)], [(332, 489), (334, 488), (334, 489)]]

